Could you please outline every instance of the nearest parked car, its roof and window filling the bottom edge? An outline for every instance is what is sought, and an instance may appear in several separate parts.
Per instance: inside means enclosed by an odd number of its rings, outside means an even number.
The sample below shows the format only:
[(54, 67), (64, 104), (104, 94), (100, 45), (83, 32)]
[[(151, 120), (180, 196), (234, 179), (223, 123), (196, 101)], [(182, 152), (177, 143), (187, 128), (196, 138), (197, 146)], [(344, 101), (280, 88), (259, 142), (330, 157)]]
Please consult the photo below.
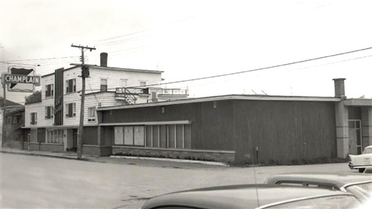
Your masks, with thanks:
[(337, 190), (265, 184), (219, 186), (153, 197), (141, 209), (358, 208), (354, 195)]

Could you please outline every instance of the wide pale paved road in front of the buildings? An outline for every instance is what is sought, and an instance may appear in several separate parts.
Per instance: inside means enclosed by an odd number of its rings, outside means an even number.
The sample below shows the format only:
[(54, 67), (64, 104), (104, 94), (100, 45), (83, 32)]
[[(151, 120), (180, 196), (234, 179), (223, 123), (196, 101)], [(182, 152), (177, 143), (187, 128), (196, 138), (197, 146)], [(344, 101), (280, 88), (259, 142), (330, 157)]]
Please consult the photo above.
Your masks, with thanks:
[(346, 163), (239, 168), (105, 157), (100, 162), (7, 153), (0, 157), (1, 208), (138, 208), (165, 192), (262, 183), (276, 173), (356, 173)]

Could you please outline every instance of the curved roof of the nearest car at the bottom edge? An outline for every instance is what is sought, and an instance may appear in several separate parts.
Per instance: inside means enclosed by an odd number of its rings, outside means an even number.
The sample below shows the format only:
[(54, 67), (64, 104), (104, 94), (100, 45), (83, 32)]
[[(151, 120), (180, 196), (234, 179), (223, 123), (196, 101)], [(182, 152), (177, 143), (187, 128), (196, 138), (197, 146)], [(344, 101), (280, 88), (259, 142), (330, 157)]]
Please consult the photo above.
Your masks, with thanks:
[[(141, 209), (161, 206), (190, 208), (258, 208), (271, 203), (332, 195), (350, 195), (337, 190), (267, 184), (245, 184), (185, 190), (153, 197)], [(259, 199), (259, 201), (258, 201)]]

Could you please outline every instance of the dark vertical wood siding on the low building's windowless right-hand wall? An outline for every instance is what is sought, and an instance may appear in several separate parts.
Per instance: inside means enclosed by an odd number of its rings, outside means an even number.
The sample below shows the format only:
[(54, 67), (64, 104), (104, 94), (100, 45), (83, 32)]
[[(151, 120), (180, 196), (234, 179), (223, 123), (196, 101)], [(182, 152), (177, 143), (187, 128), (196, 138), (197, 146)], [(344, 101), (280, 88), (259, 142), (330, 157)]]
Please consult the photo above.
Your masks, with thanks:
[(237, 100), (234, 111), (238, 164), (336, 157), (333, 102)]

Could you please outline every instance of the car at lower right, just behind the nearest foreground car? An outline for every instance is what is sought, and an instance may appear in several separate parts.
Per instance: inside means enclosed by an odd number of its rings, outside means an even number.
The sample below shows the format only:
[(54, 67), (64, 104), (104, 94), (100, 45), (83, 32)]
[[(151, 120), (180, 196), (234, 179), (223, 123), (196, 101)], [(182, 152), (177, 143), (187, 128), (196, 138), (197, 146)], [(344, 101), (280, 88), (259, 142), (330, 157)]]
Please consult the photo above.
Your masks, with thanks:
[(329, 188), (350, 192), (361, 201), (372, 197), (372, 175), (363, 173), (289, 173), (273, 175), (264, 184)]

